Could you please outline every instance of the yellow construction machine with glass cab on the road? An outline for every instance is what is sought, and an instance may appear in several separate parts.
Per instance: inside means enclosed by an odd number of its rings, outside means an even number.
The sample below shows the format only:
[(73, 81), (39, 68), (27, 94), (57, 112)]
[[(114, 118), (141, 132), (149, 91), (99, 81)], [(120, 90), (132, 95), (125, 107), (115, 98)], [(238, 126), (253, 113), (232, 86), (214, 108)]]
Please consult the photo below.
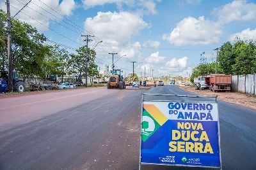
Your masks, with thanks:
[(108, 89), (125, 89), (125, 80), (121, 75), (121, 72), (120, 69), (113, 69), (111, 71), (112, 75), (109, 76)]

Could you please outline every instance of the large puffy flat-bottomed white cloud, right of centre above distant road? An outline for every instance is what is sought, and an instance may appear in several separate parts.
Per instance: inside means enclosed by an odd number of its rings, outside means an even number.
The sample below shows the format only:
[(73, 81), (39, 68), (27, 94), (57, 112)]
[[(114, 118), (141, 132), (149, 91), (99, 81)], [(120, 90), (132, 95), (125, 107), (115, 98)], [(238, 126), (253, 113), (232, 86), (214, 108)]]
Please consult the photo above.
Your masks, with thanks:
[(181, 20), (170, 34), (164, 34), (163, 39), (175, 45), (207, 45), (218, 43), (222, 34), (221, 26), (204, 16)]

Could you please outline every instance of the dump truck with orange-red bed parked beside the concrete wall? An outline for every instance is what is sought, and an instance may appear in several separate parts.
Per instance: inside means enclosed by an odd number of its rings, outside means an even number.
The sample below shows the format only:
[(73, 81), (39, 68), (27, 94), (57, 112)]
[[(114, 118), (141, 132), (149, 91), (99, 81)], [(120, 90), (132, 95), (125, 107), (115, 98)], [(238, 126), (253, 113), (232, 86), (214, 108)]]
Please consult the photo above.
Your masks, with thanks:
[(226, 74), (210, 74), (210, 89), (212, 92), (230, 92), (232, 76)]

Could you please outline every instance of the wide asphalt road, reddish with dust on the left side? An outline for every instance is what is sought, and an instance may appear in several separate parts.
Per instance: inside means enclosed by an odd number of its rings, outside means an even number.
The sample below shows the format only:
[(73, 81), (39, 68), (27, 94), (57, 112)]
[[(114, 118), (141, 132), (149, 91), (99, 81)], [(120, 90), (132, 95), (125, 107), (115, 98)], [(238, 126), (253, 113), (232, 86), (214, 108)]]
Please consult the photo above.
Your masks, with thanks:
[[(138, 169), (143, 92), (191, 94), (99, 87), (0, 99), (0, 169)], [(222, 101), (219, 111), (223, 169), (255, 169), (256, 111)]]

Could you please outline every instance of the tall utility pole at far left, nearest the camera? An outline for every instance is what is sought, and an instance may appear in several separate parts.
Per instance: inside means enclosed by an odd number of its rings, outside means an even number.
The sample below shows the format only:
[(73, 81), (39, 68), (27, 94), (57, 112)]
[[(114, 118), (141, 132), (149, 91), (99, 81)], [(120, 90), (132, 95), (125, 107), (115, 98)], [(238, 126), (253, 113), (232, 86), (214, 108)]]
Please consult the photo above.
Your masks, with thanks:
[(12, 36), (11, 36), (11, 13), (10, 13), (10, 0), (6, 0), (7, 7), (7, 55), (9, 60), (9, 74), (8, 74), (8, 89), (13, 92), (13, 59), (12, 59)]

